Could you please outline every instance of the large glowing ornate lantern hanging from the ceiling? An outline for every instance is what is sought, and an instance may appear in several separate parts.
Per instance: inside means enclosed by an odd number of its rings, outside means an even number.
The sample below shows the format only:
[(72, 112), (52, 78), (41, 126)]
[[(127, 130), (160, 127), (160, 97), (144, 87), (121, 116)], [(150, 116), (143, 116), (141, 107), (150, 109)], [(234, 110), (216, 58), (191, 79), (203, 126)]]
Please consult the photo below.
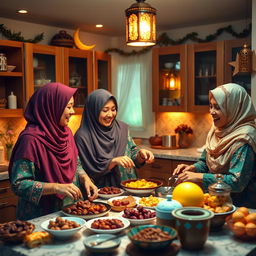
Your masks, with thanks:
[(145, 0), (136, 0), (126, 14), (126, 44), (129, 46), (153, 46), (156, 44), (156, 9)]

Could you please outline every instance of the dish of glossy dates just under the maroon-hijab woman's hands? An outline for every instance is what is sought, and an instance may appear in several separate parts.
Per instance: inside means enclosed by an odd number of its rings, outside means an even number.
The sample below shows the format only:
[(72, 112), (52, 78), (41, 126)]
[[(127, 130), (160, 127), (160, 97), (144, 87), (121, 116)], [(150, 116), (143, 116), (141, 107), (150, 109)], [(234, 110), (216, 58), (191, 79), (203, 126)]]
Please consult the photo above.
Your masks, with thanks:
[(78, 201), (75, 204), (65, 206), (62, 213), (69, 217), (80, 217), (92, 219), (106, 215), (111, 210), (111, 206), (103, 202), (90, 202), (89, 200)]

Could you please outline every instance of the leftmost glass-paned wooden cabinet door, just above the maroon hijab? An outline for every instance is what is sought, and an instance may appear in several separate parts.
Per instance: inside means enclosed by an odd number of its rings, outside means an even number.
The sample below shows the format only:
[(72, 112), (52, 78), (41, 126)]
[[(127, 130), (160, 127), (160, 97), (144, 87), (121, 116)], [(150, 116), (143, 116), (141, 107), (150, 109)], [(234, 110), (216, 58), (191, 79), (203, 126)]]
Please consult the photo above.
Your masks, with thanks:
[(61, 47), (25, 43), (27, 100), (50, 82), (63, 82)]

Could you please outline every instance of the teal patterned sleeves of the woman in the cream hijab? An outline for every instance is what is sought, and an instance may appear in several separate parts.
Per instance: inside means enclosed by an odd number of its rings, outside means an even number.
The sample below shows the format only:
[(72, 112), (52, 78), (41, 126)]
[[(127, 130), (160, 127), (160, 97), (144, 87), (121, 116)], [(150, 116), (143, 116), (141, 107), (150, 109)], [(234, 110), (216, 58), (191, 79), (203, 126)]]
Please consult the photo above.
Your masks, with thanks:
[[(224, 182), (232, 188), (232, 192), (242, 192), (253, 176), (255, 167), (255, 153), (251, 146), (245, 144), (234, 153), (228, 174), (224, 174)], [(215, 174), (206, 173), (203, 176), (205, 189), (216, 182)]]

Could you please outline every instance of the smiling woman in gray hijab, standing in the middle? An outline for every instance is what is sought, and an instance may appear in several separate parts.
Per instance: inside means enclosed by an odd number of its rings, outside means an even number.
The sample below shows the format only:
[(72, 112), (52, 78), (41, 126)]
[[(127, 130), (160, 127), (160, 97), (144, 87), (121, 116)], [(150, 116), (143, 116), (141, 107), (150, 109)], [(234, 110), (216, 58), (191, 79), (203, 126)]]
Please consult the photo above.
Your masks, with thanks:
[(135, 167), (154, 159), (152, 152), (137, 148), (128, 125), (116, 119), (117, 110), (110, 92), (93, 91), (75, 134), (82, 166), (98, 187), (120, 186), (122, 180), (137, 177)]

